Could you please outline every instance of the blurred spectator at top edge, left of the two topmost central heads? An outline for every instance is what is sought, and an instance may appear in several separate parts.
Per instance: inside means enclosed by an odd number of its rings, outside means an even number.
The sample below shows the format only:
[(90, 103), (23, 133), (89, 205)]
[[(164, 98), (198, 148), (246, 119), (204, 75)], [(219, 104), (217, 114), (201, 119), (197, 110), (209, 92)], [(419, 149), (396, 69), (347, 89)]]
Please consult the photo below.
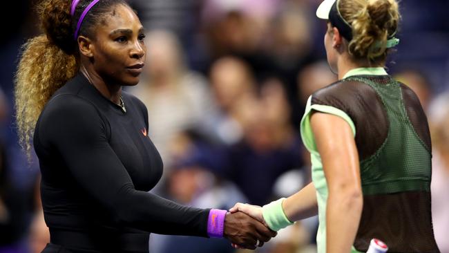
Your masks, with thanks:
[[(258, 46), (276, 10), (277, 0), (207, 0), (202, 22), (212, 59), (238, 55), (249, 59), (258, 55)], [(251, 62), (250, 62), (251, 64)]]

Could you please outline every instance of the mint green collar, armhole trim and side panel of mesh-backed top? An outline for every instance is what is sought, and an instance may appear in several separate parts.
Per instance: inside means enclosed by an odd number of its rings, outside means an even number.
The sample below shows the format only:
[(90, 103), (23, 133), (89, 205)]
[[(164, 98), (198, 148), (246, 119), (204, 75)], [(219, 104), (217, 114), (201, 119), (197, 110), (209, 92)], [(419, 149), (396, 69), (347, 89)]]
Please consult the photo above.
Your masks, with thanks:
[[(352, 77), (355, 75), (388, 75), (383, 68), (355, 68), (347, 72), (343, 79)], [(321, 156), (316, 149), (316, 142), (312, 133), (312, 127), (310, 126), (310, 114), (314, 111), (322, 113), (329, 113), (343, 118), (350, 125), (354, 137), (356, 135), (356, 128), (354, 122), (347, 113), (337, 109), (333, 106), (325, 106), (319, 104), (312, 105), (312, 96), (307, 100), (307, 106), (303, 119), (300, 123), (300, 133), (303, 143), (307, 150), (310, 152), (312, 160), (312, 182), (316, 189), (316, 199), (318, 201), (318, 233), (316, 234), (316, 243), (318, 247), (318, 253), (326, 252), (326, 205), (327, 205), (327, 182), (323, 171), (323, 164), (321, 162)], [(358, 252), (352, 247), (352, 252)]]

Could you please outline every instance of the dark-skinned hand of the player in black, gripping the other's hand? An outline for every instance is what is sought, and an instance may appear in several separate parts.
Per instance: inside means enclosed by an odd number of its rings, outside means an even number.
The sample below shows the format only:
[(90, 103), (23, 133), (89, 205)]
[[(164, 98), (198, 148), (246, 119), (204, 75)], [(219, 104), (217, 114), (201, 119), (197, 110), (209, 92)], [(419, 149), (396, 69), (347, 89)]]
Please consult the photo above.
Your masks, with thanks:
[(254, 250), (276, 235), (276, 232), (243, 212), (226, 214), (224, 236), (234, 245)]

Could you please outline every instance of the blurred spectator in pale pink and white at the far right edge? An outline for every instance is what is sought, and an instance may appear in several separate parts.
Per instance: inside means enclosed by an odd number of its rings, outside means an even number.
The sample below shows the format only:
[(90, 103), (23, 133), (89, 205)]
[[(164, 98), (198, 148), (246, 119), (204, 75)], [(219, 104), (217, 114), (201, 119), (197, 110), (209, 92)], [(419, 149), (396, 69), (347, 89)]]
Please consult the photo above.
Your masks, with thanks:
[(429, 110), (432, 135), (432, 223), (441, 252), (449, 252), (449, 93), (439, 95)]

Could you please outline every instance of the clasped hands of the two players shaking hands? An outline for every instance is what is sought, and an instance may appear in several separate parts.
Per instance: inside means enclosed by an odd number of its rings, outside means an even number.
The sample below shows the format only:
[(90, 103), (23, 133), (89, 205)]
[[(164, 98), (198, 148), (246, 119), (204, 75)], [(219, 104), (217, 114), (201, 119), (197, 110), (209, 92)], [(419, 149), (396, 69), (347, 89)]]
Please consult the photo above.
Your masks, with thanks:
[(223, 236), (233, 247), (254, 250), (277, 234), (265, 222), (262, 207), (237, 203), (226, 214)]

